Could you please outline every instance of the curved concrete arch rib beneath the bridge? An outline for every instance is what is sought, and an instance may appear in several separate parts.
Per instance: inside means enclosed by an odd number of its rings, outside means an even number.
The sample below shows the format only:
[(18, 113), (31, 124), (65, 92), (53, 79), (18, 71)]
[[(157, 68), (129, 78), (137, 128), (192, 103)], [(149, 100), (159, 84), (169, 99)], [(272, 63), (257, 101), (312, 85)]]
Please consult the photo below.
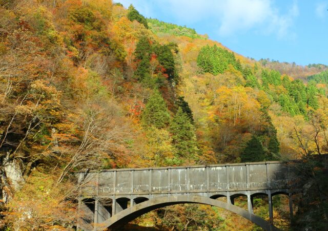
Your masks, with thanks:
[(198, 204), (208, 204), (212, 206), (217, 206), (220, 208), (227, 209), (249, 221), (257, 224), (262, 227), (264, 230), (279, 230), (273, 224), (265, 221), (264, 219), (249, 213), (245, 209), (242, 209), (233, 204), (222, 202), (219, 200), (211, 199), (204, 196), (190, 196), (190, 195), (179, 195), (179, 196), (169, 196), (169, 197), (158, 197), (149, 199), (147, 201), (141, 202), (129, 208), (126, 208), (124, 211), (121, 211), (115, 214), (113, 217), (108, 220), (95, 224), (96, 230), (103, 230), (105, 228), (116, 229), (122, 225), (127, 224), (128, 222), (134, 220), (135, 218), (146, 214), (156, 208), (165, 207), (168, 205), (174, 204), (185, 204), (185, 203), (198, 203)]

